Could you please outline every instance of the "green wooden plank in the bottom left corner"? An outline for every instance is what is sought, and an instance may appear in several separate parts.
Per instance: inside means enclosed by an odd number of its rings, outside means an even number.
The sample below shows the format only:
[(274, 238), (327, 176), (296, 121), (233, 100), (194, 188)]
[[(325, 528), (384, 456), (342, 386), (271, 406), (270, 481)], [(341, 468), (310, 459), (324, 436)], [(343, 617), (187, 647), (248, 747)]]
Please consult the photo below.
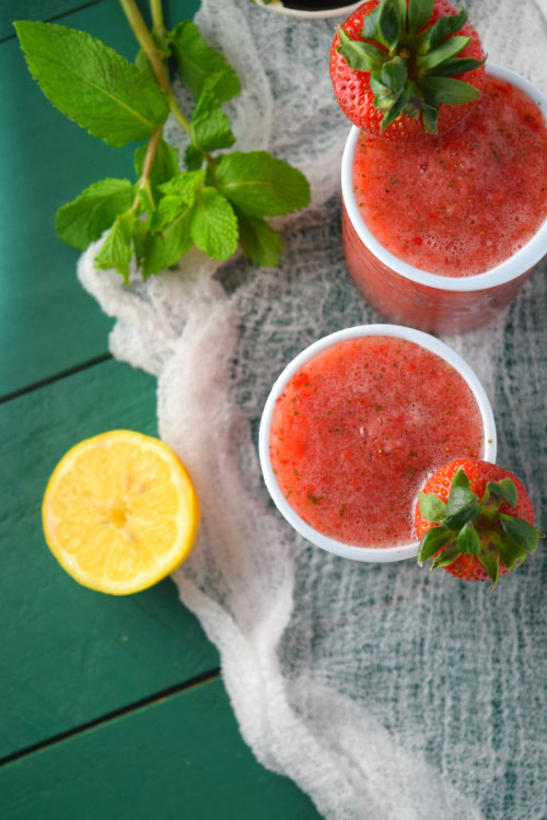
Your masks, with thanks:
[(0, 769), (9, 820), (319, 820), (241, 739), (219, 679)]

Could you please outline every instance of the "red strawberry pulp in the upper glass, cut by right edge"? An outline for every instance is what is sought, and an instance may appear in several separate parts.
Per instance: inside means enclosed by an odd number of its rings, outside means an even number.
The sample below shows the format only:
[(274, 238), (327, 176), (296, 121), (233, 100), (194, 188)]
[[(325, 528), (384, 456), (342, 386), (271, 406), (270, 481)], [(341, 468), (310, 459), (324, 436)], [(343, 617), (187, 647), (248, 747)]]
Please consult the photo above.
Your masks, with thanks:
[(430, 273), (496, 267), (547, 219), (547, 126), (511, 83), (487, 75), (480, 102), (437, 139), (361, 137), (353, 188), (361, 215), (394, 256)]

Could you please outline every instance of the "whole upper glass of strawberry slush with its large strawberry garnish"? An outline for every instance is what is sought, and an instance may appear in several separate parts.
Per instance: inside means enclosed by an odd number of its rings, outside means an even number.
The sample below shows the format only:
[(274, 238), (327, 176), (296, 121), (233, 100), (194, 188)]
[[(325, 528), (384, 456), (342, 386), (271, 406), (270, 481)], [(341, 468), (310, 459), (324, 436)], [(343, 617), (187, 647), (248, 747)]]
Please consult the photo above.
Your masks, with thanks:
[(547, 97), (484, 62), (447, 0), (368, 0), (330, 50), (348, 269), (422, 329), (485, 324), (547, 251)]

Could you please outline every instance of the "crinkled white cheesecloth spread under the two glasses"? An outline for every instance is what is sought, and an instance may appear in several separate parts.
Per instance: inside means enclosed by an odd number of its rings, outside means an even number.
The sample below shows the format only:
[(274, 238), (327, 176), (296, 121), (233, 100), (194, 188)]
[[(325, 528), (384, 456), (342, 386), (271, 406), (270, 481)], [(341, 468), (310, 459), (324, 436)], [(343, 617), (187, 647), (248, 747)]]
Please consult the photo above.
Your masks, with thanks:
[[(489, 59), (547, 91), (539, 2), (467, 5)], [(349, 124), (328, 75), (340, 20), (202, 0), (196, 22), (244, 84), (226, 106), (235, 148), (300, 167), (313, 201), (278, 220), (277, 270), (190, 253), (128, 289), (94, 270), (96, 246), (81, 258), (83, 286), (116, 318), (113, 354), (158, 376), (160, 434), (202, 502), (197, 546), (174, 575), (181, 598), (219, 647), (246, 742), (328, 820), (545, 820), (545, 550), (496, 594), (414, 561), (352, 563), (295, 536), (261, 482), (258, 422), (284, 364), (325, 333), (382, 320), (341, 250)], [(171, 122), (166, 138), (184, 148)], [(544, 260), (498, 320), (447, 339), (482, 380), (499, 462), (531, 488), (544, 529), (546, 273)]]

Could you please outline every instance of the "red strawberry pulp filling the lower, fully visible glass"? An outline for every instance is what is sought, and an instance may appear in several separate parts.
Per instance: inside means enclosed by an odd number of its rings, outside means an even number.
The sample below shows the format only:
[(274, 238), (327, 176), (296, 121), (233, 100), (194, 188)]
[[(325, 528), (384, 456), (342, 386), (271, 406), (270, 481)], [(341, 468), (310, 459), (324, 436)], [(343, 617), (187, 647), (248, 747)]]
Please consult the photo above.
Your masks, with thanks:
[(291, 507), (348, 544), (414, 540), (414, 500), (431, 471), (481, 458), (482, 421), (464, 378), (419, 344), (340, 341), (311, 359), (277, 399), (270, 459)]

